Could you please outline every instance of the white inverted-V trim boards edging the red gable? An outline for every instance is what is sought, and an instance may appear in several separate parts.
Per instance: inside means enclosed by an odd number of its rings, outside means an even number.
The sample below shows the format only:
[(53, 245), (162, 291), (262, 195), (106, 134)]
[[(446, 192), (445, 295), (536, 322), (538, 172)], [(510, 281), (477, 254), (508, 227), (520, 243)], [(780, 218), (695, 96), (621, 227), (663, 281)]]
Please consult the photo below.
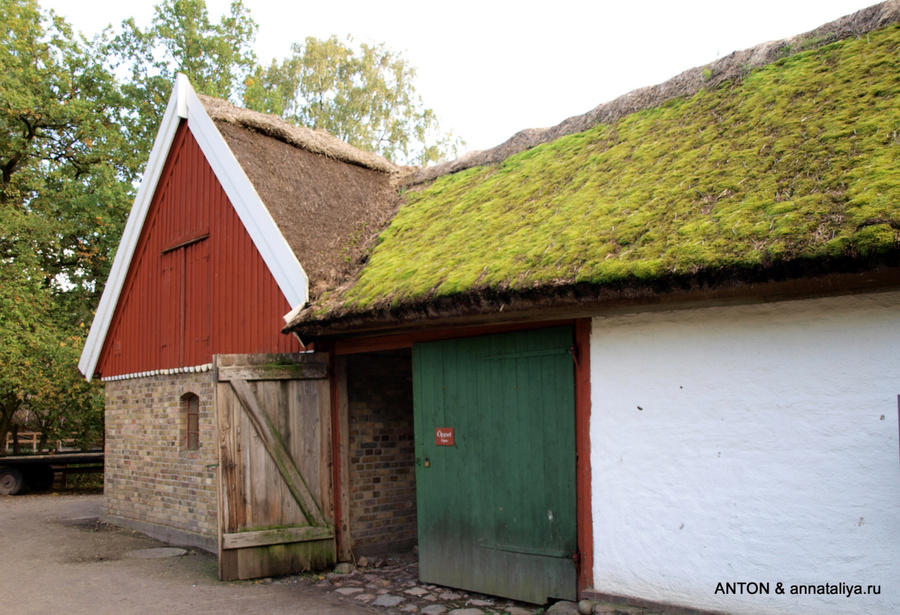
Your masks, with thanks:
[(153, 150), (144, 171), (143, 181), (128, 216), (128, 222), (116, 251), (103, 296), (100, 298), (100, 305), (85, 341), (81, 359), (78, 361), (78, 369), (88, 380), (93, 378), (100, 360), (100, 352), (119, 303), (128, 270), (131, 267), (131, 260), (147, 218), (147, 212), (169, 156), (175, 132), (182, 119), (187, 120), (191, 134), (200, 145), (203, 155), (225, 190), (228, 200), (247, 229), (250, 239), (259, 250), (263, 261), (271, 271), (278, 288), (284, 293), (288, 303), (292, 306), (300, 306), (306, 303), (309, 296), (309, 280), (297, 260), (296, 254), (291, 250), (269, 214), (269, 210), (266, 209), (250, 179), (244, 173), (244, 169), (206, 113), (206, 109), (197, 98), (187, 77), (179, 74), (175, 78), (175, 88), (172, 90), (159, 132), (153, 143)]

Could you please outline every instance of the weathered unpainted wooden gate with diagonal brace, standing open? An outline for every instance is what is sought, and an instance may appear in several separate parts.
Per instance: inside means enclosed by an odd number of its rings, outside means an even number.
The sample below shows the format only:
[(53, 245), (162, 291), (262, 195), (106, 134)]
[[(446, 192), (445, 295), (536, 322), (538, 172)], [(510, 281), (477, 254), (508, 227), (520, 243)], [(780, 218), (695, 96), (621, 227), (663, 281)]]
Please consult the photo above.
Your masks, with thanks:
[(216, 357), (224, 581), (335, 562), (327, 365), (323, 354)]

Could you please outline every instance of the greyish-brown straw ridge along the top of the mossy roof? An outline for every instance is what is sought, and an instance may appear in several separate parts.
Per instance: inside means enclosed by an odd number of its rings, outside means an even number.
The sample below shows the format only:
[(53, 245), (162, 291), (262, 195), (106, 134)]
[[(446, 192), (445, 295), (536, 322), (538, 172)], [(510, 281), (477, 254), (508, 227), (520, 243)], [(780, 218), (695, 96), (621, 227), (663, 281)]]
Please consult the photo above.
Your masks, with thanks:
[(633, 90), (613, 101), (602, 103), (583, 115), (570, 117), (556, 126), (528, 128), (496, 147), (468, 152), (456, 160), (419, 169), (406, 178), (406, 184), (410, 186), (423, 184), (442, 175), (496, 164), (542, 143), (584, 132), (597, 124), (615, 122), (626, 115), (658, 107), (674, 98), (693, 96), (703, 88), (714, 88), (726, 81), (739, 80), (756, 68), (795, 53), (863, 36), (867, 32), (897, 22), (900, 22), (900, 0), (887, 0), (819, 26), (805, 34), (735, 51), (704, 66), (686, 70), (661, 84)]

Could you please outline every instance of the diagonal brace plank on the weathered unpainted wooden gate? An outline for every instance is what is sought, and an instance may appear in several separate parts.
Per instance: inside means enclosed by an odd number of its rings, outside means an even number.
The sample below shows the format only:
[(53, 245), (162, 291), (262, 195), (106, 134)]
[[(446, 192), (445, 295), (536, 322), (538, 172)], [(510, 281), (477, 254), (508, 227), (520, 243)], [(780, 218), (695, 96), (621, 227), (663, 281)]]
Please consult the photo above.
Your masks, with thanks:
[(269, 417), (260, 408), (259, 400), (257, 400), (256, 394), (254, 394), (250, 385), (247, 384), (246, 380), (231, 380), (230, 382), (241, 404), (247, 410), (247, 415), (250, 417), (250, 422), (253, 423), (256, 433), (262, 440), (272, 461), (278, 467), (278, 471), (287, 484), (288, 490), (294, 496), (294, 500), (300, 506), (300, 510), (303, 511), (306, 520), (313, 526), (323, 527), (328, 525), (322, 510), (319, 508), (319, 504), (316, 502), (313, 494), (310, 493), (303, 475), (300, 474), (297, 466), (294, 465), (290, 453), (284, 448), (284, 444), (269, 421)]

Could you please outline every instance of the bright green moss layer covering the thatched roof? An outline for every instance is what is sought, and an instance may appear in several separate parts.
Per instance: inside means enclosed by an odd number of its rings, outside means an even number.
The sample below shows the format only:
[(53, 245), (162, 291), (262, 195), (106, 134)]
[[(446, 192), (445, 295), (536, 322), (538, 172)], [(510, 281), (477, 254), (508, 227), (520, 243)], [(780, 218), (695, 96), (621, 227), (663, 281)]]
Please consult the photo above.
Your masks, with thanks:
[[(345, 308), (898, 245), (900, 27), (411, 191)], [(333, 297), (332, 299), (335, 299)]]

